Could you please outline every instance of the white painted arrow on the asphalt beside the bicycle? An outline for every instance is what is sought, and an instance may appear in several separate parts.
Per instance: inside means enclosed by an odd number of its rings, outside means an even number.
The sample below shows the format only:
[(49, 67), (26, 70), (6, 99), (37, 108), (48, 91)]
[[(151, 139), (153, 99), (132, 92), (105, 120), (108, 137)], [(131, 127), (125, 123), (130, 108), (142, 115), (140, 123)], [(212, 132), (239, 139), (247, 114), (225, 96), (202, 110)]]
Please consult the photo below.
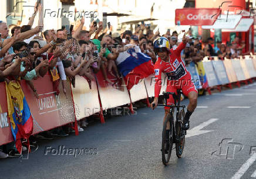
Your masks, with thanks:
[(210, 125), (211, 123), (213, 123), (215, 121), (218, 121), (218, 119), (216, 119), (216, 118), (209, 119), (208, 121), (201, 123), (200, 125), (194, 127), (193, 129), (187, 130), (186, 138), (214, 131), (214, 130), (201, 130), (201, 129), (203, 129), (204, 127)]

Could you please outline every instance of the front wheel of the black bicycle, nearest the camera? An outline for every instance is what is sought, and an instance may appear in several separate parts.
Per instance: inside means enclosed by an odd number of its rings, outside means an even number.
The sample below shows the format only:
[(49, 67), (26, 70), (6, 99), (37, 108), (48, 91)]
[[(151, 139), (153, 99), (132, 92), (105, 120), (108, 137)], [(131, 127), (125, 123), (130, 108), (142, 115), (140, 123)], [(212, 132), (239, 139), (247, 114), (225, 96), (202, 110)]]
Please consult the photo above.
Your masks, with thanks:
[[(164, 119), (163, 132), (162, 132), (162, 161), (164, 165), (169, 163), (171, 157), (171, 150), (173, 149), (173, 123), (171, 114), (167, 115)], [(167, 128), (169, 132), (167, 133)]]

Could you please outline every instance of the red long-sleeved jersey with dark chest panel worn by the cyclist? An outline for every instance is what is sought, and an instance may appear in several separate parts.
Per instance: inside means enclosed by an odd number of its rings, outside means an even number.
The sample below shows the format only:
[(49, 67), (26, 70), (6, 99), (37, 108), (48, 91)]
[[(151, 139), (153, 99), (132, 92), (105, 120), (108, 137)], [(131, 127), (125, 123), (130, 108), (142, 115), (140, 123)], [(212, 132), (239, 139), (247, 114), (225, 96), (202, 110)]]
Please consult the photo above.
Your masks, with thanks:
[[(154, 97), (159, 97), (161, 90), (161, 73), (167, 75), (168, 80), (180, 80), (191, 79), (190, 73), (187, 71), (184, 62), (181, 60), (181, 50), (186, 47), (183, 42), (180, 43), (178, 47), (173, 47), (170, 50), (170, 61), (162, 61), (158, 57), (156, 63), (154, 64), (154, 73), (156, 77), (156, 84), (154, 85)], [(168, 82), (167, 82), (168, 84)]]

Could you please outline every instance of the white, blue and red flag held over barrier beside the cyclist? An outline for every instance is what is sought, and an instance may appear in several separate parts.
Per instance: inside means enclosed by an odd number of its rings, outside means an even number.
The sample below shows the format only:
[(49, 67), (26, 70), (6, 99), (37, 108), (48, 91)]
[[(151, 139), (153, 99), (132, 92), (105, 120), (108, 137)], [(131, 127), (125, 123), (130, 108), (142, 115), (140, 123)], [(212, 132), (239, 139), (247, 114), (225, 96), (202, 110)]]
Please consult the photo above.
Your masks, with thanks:
[(116, 59), (117, 68), (124, 77), (127, 89), (131, 89), (139, 80), (154, 73), (151, 57), (140, 52), (139, 47), (133, 47), (119, 54)]

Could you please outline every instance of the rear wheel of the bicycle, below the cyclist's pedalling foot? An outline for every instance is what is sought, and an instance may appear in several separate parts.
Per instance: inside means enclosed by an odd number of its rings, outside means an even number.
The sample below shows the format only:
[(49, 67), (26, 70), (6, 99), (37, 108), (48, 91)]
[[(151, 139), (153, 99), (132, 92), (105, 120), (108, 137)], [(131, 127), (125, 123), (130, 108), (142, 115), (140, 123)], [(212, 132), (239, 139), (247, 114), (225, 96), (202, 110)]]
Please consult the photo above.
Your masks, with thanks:
[(179, 113), (178, 113), (178, 120), (175, 123), (175, 128), (176, 128), (176, 137), (178, 137), (178, 141), (175, 144), (175, 148), (176, 148), (176, 156), (178, 158), (181, 157), (183, 150), (184, 150), (184, 146), (185, 146), (185, 132), (182, 129), (182, 125), (183, 125), (183, 118), (185, 116), (185, 112), (182, 109)]

